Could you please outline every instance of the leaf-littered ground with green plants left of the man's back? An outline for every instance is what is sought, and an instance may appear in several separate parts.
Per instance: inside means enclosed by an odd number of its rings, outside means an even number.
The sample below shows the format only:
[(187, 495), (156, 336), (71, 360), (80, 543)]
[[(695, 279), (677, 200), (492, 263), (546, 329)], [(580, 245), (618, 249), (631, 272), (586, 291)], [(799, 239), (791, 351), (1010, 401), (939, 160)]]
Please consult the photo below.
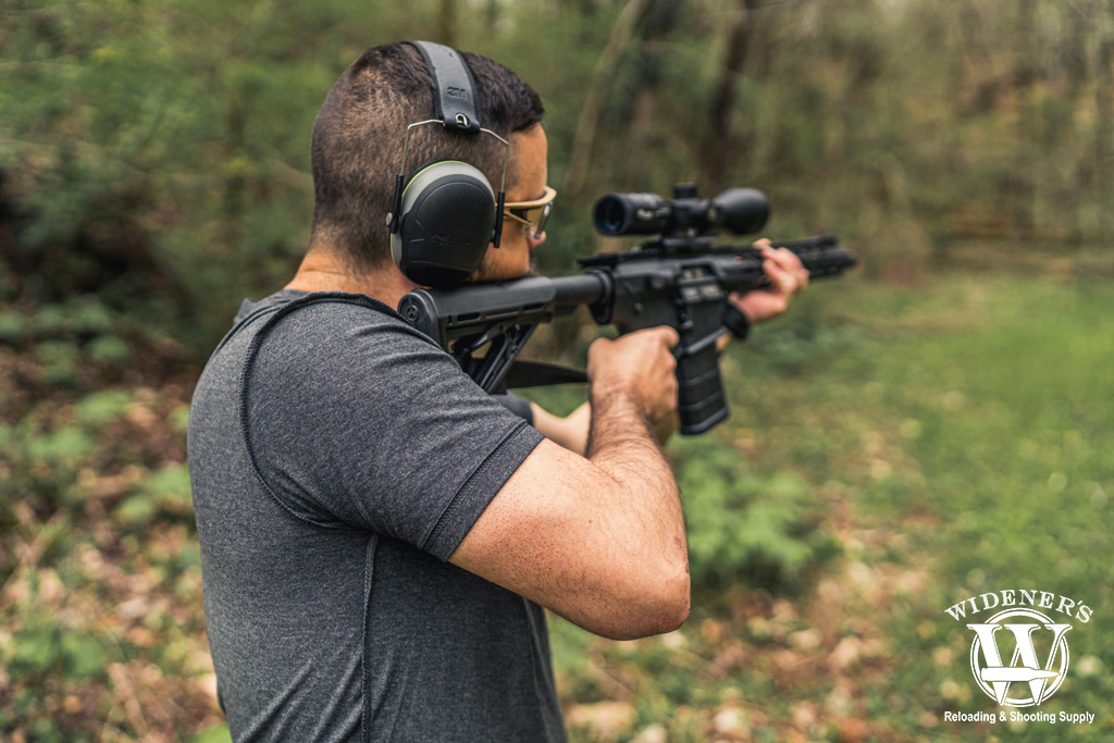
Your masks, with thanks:
[(0, 345), (0, 737), (183, 737), (216, 724), (186, 388), (164, 366), (175, 352), (120, 334), (96, 302), (7, 316), (18, 332)]

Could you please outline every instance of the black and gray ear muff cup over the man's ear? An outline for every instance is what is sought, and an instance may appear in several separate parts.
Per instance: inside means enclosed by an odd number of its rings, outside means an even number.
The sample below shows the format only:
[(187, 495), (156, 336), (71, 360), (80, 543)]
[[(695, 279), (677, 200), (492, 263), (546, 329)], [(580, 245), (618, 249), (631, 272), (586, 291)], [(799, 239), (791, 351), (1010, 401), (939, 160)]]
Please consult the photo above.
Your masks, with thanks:
[(476, 272), (495, 235), (496, 198), (477, 168), (441, 160), (419, 170), (402, 192), (394, 263), (412, 282), (459, 286)]

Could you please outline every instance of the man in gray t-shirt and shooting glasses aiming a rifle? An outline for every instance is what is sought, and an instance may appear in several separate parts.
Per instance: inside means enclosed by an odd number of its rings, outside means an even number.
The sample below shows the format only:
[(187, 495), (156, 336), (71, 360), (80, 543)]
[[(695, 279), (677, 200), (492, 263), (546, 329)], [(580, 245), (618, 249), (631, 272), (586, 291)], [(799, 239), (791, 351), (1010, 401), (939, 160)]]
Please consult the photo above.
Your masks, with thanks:
[[(475, 278), (514, 278), (545, 239), (520, 208), (547, 194), (543, 108), (506, 68), (463, 57), (483, 126), (510, 141), (512, 216)], [(431, 85), (407, 45), (338, 80), (314, 127), (305, 260), (245, 302), (194, 395), (205, 615), (237, 741), (564, 740), (541, 607), (614, 638), (688, 613), (681, 504), (653, 433), (675, 416), (675, 332), (597, 341), (590, 408), (536, 409), (531, 427), (393, 311), (416, 285), (384, 224)], [(499, 182), (494, 138), (422, 127), (409, 146), (413, 169), (460, 158)], [(807, 281), (766, 253), (776, 289), (740, 299), (752, 320)]]

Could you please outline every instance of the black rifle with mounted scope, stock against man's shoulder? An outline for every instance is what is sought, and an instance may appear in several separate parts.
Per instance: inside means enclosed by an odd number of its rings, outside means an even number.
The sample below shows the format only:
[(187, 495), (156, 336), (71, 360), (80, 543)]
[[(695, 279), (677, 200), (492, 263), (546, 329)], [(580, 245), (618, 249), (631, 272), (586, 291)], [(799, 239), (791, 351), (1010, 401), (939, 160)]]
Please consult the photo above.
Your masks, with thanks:
[[(608, 194), (596, 203), (596, 229), (608, 236), (655, 235), (649, 242), (579, 258), (582, 275), (414, 290), (402, 297), (399, 313), (452, 354), (488, 392), (500, 385), (586, 381), (577, 370), (516, 362), (540, 323), (570, 314), (582, 304), (588, 305), (596, 323), (614, 324), (619, 333), (672, 325), (681, 336), (674, 349), (680, 430), (703, 433), (727, 417), (716, 348), (724, 325), (732, 326), (734, 307), (727, 295), (770, 284), (760, 251), (717, 246), (715, 238), (721, 227), (735, 235), (754, 234), (769, 213), (769, 201), (754, 188), (729, 188), (712, 199), (697, 198), (695, 186), (688, 184), (675, 186), (672, 199)], [(834, 235), (773, 246), (795, 253), (810, 278), (834, 276), (857, 262)], [(487, 352), (477, 355), (485, 346)]]

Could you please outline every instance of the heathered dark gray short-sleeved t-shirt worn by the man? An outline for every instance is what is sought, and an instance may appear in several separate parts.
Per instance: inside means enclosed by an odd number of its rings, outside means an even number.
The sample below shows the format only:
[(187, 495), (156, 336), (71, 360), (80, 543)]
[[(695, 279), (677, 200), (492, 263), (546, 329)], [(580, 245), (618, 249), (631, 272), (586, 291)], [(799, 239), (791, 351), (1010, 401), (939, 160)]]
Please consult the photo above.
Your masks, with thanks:
[(380, 302), (245, 302), (189, 418), (233, 737), (564, 741), (543, 609), (446, 561), (540, 439)]

